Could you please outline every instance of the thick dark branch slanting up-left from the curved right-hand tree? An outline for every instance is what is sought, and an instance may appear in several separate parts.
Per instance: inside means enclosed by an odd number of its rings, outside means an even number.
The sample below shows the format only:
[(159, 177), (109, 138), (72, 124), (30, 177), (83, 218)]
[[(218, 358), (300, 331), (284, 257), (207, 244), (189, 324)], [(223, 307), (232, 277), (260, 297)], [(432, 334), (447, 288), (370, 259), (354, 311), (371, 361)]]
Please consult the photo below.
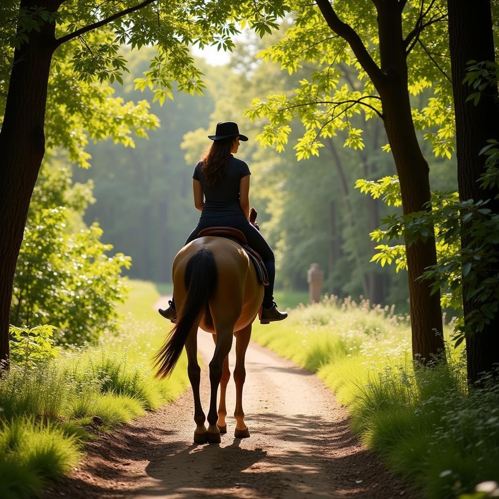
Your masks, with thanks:
[(385, 75), (369, 55), (357, 31), (337, 16), (328, 0), (316, 0), (316, 2), (327, 25), (348, 42), (357, 60), (369, 75), (374, 85), (376, 87), (381, 85), (385, 79)]

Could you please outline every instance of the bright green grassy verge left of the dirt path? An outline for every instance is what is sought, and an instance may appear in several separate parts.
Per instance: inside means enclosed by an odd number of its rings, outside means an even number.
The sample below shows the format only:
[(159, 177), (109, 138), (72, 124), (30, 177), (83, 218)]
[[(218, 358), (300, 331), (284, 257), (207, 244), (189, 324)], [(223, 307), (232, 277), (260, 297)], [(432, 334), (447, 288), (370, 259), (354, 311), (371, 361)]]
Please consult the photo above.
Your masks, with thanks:
[(0, 378), (0, 497), (36, 496), (73, 467), (82, 442), (174, 400), (188, 385), (181, 357), (171, 378), (153, 376), (151, 357), (165, 321), (151, 283), (134, 282), (118, 335), (59, 352), (36, 367), (12, 366)]

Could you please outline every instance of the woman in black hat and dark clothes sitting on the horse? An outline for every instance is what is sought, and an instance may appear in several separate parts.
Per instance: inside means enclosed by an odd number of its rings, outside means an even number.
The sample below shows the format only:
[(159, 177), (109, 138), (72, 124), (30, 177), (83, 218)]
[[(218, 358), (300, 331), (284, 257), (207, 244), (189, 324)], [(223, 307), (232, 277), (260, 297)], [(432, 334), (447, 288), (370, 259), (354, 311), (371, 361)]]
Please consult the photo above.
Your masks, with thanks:
[[(208, 227), (234, 227), (239, 229), (249, 246), (260, 254), (268, 274), (268, 286), (265, 286), (260, 322), (282, 320), (286, 313), (279, 312), (273, 299), (275, 279), (274, 253), (263, 236), (250, 224), (250, 169), (248, 165), (235, 158), (239, 141), (246, 142), (248, 137), (239, 133), (237, 123), (225, 121), (217, 124), (210, 149), (196, 165), (193, 175), (194, 205), (201, 211), (198, 226), (187, 238), (186, 245), (194, 241), (199, 233)], [(255, 227), (256, 225), (256, 227)], [(174, 287), (174, 297), (175, 297)], [(163, 317), (176, 321), (175, 301), (169, 301), (166, 310), (160, 309)]]

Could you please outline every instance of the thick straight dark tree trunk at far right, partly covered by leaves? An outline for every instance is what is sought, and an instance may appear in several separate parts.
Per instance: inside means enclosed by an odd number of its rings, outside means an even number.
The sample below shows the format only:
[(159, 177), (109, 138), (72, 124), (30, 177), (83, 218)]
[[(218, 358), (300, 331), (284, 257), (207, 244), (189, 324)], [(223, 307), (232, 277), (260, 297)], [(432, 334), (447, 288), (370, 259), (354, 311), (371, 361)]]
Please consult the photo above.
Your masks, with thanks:
[[(448, 9), (459, 198), (461, 201), (491, 199), (489, 207), (498, 213), (499, 201), (494, 201), (498, 189), (484, 192), (477, 182), (485, 172), (485, 158), (479, 156), (480, 150), (486, 145), (487, 139), (499, 139), (497, 87), (488, 88), (482, 94), (479, 104), (474, 106), (473, 102), (466, 102), (466, 99), (475, 90), (462, 83), (468, 61), (494, 61), (491, 4), (489, 0), (449, 0)], [(467, 241), (463, 240), (462, 245), (466, 244)], [(463, 283), (463, 297), (468, 290), (467, 284)], [(477, 308), (477, 304), (473, 299), (464, 299), (463, 308), (466, 320), (466, 316)], [(483, 331), (466, 339), (468, 378), (471, 382), (478, 379), (479, 373), (491, 371), (494, 363), (499, 362), (498, 331), (499, 314), (496, 314)]]

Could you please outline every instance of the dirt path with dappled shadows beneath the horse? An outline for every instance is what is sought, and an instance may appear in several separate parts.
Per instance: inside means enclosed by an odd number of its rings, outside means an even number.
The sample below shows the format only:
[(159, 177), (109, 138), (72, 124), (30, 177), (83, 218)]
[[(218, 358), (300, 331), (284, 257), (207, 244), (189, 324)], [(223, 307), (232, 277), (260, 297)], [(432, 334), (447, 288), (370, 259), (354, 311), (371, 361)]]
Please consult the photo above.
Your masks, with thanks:
[[(199, 333), (205, 365), (211, 335)], [(234, 365), (231, 357), (231, 371)], [(46, 498), (417, 498), (351, 434), (344, 408), (312, 374), (252, 343), (244, 392), (249, 439), (193, 445), (190, 391), (88, 446), (81, 467)], [(209, 385), (203, 371), (202, 400)], [(235, 388), (229, 383), (228, 412)]]

